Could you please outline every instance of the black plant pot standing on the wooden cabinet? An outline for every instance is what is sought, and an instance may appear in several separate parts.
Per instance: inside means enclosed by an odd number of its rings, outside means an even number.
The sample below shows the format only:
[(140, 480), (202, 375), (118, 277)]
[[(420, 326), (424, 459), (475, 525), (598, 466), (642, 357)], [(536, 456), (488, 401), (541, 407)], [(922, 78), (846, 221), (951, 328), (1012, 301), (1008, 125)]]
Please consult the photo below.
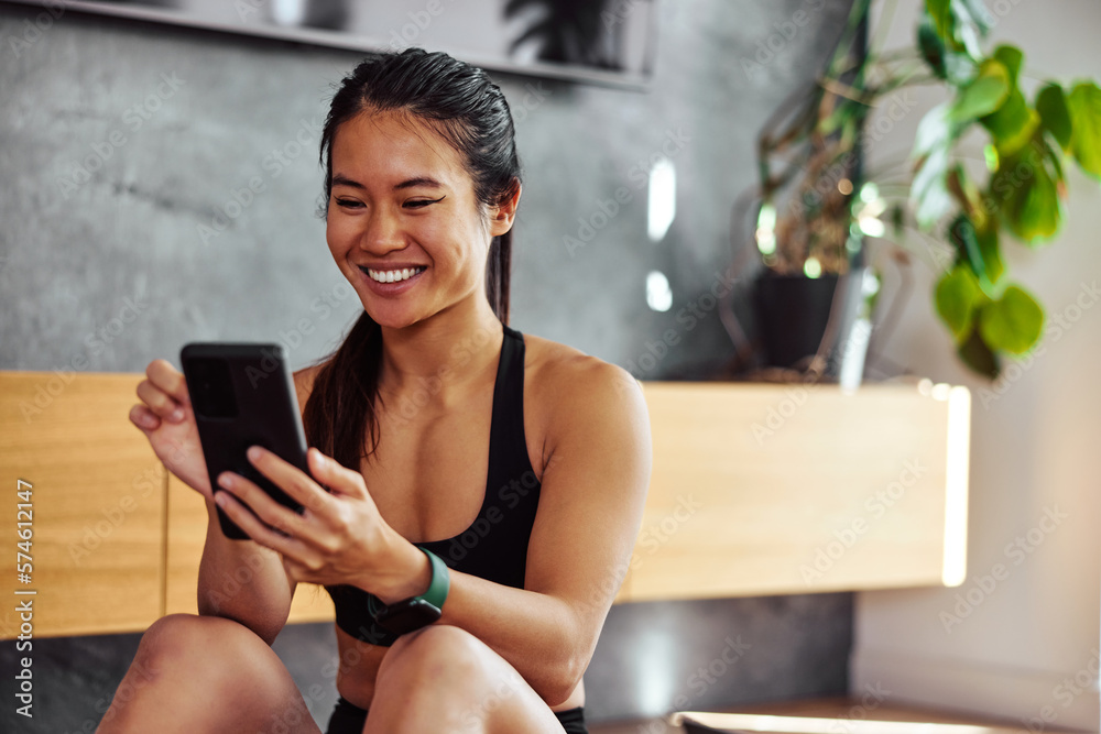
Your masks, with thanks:
[(765, 271), (753, 289), (757, 341), (765, 366), (794, 368), (814, 357), (829, 322), (838, 276)]

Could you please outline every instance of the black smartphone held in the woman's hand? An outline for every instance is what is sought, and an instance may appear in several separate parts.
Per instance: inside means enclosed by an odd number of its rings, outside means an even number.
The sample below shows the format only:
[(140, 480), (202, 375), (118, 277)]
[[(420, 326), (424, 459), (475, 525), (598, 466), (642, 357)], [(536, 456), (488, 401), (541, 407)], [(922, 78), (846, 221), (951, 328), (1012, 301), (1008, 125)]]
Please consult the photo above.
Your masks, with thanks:
[[(179, 351), (199, 442), (218, 489), (218, 475), (232, 471), (255, 482), (273, 500), (302, 512), (302, 505), (249, 462), (250, 446), (262, 446), (309, 474), (306, 437), (286, 351), (275, 343), (192, 342)], [(219, 507), (228, 538), (248, 539)]]

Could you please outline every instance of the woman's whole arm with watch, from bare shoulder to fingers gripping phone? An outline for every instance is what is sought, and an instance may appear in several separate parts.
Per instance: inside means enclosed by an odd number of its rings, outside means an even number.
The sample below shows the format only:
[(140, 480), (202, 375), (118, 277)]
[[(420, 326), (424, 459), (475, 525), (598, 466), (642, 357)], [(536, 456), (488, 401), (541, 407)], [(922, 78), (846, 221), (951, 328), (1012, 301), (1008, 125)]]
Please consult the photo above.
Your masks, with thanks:
[[(541, 384), (554, 410), (525, 589), (453, 573), (439, 621), (493, 648), (548, 705), (566, 700), (589, 662), (626, 572), (650, 483), (650, 420), (639, 383), (593, 358), (576, 361)], [(305, 514), (241, 479), (216, 496), (250, 537), (283, 555), (290, 578), (350, 583), (386, 604), (427, 590), (427, 557), (381, 518), (362, 474), (317, 449), (308, 454), (316, 481), (268, 451), (252, 451), (250, 460)]]

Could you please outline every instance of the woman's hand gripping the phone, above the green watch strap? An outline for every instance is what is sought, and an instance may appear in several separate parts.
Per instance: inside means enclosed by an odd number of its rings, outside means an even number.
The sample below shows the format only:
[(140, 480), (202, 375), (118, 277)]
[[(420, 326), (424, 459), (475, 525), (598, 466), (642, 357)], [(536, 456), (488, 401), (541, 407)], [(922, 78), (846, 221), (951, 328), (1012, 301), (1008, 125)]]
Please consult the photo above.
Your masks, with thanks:
[(379, 514), (362, 474), (316, 448), (306, 453), (313, 478), (259, 446), (251, 447), (248, 457), (304, 507), (303, 513), (284, 507), (233, 472), (219, 475), (218, 489), (225, 491), (215, 491), (215, 502), (249, 537), (282, 555), (288, 578), (369, 591), (380, 581), (384, 585), (379, 577), (389, 570), (386, 558), (397, 534)]

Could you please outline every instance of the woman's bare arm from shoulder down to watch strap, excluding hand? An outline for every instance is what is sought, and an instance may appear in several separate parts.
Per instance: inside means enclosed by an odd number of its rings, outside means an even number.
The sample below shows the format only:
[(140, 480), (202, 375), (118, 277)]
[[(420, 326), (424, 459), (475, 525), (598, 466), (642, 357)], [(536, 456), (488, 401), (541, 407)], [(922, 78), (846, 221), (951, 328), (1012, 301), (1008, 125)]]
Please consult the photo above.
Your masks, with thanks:
[(586, 361), (549, 385), (556, 407), (525, 589), (451, 573), (440, 620), (492, 647), (548, 705), (566, 700), (592, 657), (626, 573), (650, 484), (641, 387), (620, 368)]

